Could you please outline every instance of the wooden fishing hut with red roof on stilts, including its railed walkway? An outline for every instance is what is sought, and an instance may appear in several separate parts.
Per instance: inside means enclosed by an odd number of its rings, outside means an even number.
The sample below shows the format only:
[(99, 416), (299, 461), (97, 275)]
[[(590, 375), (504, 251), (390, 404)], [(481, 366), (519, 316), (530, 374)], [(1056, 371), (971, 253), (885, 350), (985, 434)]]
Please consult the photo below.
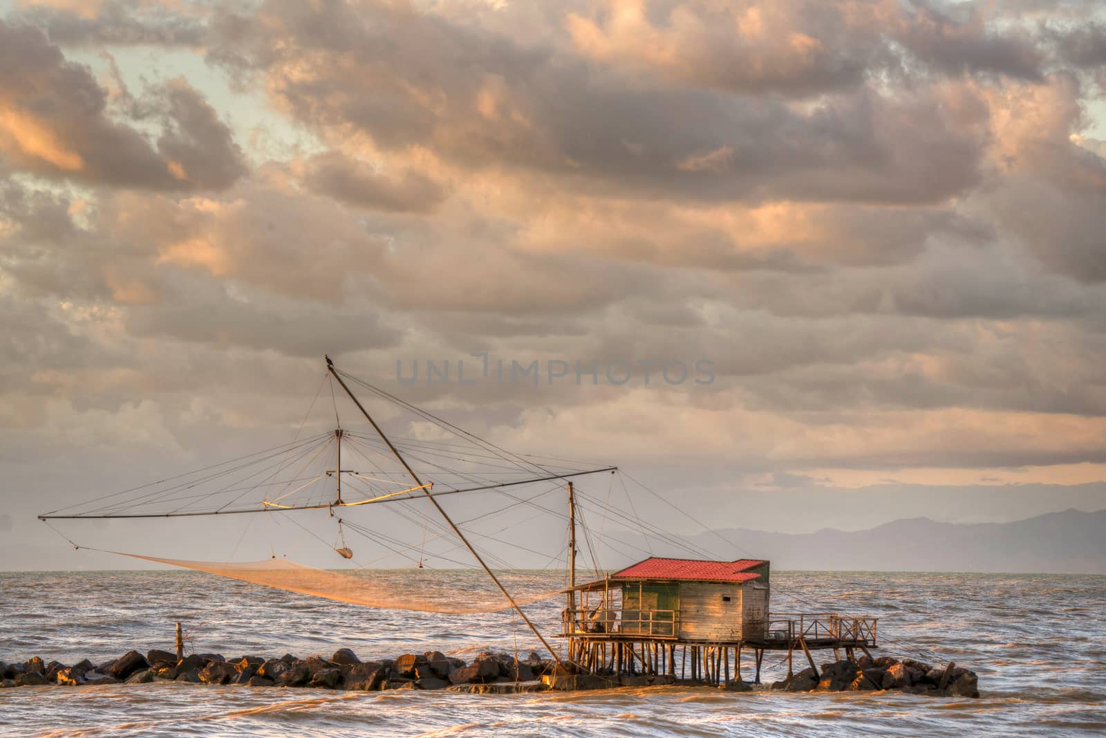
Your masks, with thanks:
[[(566, 590), (563, 613), (571, 661), (596, 675), (665, 675), (707, 684), (741, 678), (753, 652), (760, 682), (765, 651), (786, 651), (787, 673), (801, 651), (876, 647), (876, 619), (836, 613), (773, 615), (768, 561), (649, 558)], [(731, 672), (732, 665), (732, 672)]]

